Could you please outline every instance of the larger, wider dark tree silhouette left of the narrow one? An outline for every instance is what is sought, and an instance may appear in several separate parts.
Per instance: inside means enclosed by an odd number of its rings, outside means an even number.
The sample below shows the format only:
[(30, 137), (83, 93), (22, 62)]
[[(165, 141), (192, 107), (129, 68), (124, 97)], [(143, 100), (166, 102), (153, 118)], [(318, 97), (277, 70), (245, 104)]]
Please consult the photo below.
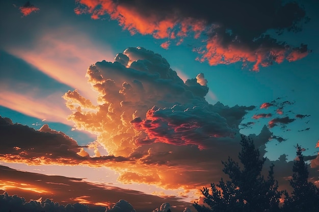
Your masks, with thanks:
[[(219, 184), (211, 183), (209, 189), (201, 190), (204, 203), (210, 208), (194, 203), (197, 211), (279, 211), (279, 199), (283, 194), (278, 191), (278, 182), (274, 179), (273, 165), (270, 167), (267, 179), (261, 174), (265, 158), (260, 158), (259, 150), (255, 148), (253, 140), (242, 136), (242, 151), (238, 158), (242, 167), (228, 157), (223, 172), (231, 181)], [(219, 187), (221, 190), (219, 190)]]

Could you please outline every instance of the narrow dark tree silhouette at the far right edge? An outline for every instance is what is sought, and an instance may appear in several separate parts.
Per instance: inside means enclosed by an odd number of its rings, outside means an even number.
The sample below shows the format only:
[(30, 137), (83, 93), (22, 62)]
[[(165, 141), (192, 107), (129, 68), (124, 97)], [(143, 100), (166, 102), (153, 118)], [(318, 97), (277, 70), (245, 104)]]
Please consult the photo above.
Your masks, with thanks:
[(284, 211), (319, 211), (319, 189), (308, 182), (309, 171), (304, 161), (302, 148), (297, 144), (297, 158), (293, 167), (293, 178), (289, 180), (294, 191), (284, 201)]

